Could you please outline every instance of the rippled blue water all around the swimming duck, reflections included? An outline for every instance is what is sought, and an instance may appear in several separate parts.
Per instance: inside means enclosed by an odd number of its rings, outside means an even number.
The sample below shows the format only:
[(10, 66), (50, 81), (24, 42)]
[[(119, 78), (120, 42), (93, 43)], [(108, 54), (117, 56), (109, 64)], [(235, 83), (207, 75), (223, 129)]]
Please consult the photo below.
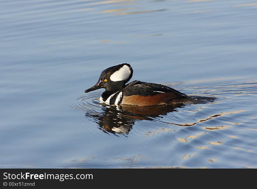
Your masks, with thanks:
[[(0, 167), (257, 168), (257, 2), (0, 5)], [(116, 108), (84, 93), (124, 62), (131, 81), (215, 100)]]

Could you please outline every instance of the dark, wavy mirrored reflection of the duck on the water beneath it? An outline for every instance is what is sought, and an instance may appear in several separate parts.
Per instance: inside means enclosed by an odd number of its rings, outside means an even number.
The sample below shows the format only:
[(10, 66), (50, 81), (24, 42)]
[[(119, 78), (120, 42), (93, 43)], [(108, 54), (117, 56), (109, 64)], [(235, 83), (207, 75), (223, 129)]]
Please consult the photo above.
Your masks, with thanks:
[(108, 106), (103, 105), (102, 115), (94, 114), (92, 111), (85, 113), (86, 117), (93, 117), (95, 122), (100, 126), (105, 133), (119, 133), (122, 135), (129, 134), (132, 126), (138, 120), (154, 120), (154, 118), (167, 115), (169, 112), (178, 111), (176, 108), (185, 105), (169, 105), (169, 106), (152, 106), (152, 107), (139, 107), (139, 106)]

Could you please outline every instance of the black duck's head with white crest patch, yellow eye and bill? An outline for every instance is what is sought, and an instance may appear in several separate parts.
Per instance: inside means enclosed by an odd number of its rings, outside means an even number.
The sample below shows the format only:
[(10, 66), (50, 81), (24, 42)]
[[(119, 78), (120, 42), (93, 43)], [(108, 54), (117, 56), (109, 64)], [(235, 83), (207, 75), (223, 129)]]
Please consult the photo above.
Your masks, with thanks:
[(125, 87), (132, 75), (132, 67), (127, 63), (109, 67), (103, 70), (98, 82), (91, 88), (86, 89), (85, 93), (101, 88), (105, 88), (107, 91), (119, 91)]

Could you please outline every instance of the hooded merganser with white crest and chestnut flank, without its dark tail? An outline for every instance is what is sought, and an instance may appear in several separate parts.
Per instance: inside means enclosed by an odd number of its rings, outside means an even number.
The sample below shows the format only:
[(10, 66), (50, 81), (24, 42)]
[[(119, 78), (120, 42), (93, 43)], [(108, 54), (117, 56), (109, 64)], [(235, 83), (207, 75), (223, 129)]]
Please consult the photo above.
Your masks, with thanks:
[(171, 87), (133, 81), (126, 84), (132, 77), (130, 64), (123, 63), (103, 70), (98, 82), (85, 93), (105, 88), (100, 102), (108, 105), (153, 106), (183, 103), (191, 97), (180, 93)]

